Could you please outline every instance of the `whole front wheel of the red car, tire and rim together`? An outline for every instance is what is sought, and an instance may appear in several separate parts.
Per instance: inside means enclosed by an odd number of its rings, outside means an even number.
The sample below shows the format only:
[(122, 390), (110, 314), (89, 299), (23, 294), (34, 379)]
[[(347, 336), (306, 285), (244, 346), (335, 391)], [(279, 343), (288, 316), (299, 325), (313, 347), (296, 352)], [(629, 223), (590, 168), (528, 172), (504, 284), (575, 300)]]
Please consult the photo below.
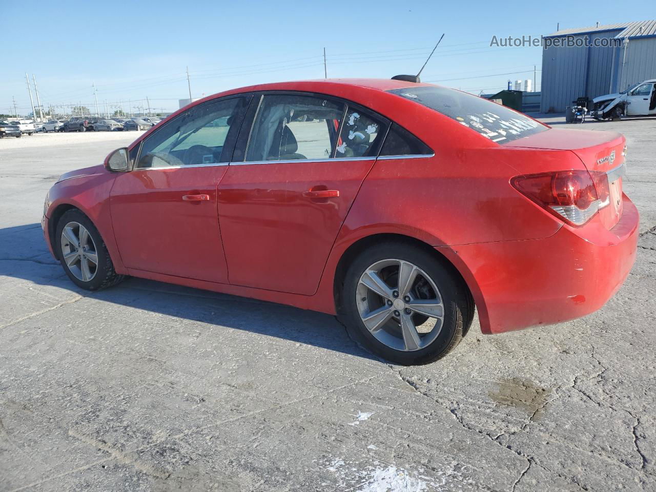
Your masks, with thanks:
[(115, 272), (110, 253), (89, 217), (70, 210), (57, 222), (54, 247), (66, 275), (89, 291), (106, 289), (123, 280)]

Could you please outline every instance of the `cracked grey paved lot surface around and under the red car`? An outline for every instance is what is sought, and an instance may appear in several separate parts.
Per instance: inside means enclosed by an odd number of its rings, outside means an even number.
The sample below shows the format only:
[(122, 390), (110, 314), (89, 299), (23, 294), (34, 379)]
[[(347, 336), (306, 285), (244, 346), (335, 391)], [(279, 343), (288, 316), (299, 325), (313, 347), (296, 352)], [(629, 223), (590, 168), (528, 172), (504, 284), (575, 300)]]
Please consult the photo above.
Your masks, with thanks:
[(140, 279), (78, 291), (43, 242), (45, 192), (137, 133), (0, 140), (0, 491), (655, 491), (656, 119), (583, 126), (628, 138), (623, 289), (569, 323), (476, 322), (407, 368), (323, 314)]

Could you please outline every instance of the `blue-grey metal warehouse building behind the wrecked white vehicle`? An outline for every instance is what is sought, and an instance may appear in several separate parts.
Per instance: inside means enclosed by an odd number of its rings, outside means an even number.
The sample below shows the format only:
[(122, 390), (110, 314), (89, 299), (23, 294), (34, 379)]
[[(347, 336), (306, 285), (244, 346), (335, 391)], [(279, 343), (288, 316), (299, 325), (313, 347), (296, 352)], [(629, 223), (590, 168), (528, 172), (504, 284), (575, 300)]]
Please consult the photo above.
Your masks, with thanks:
[(656, 20), (565, 29), (544, 36), (541, 112), (579, 97), (625, 91), (656, 79)]

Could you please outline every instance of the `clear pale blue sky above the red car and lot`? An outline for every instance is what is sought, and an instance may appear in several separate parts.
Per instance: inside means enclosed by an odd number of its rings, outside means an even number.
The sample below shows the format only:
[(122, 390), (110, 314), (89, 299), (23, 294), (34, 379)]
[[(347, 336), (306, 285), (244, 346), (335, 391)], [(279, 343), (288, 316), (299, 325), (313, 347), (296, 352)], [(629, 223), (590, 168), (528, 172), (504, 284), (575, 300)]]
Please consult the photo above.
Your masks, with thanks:
[[(31, 112), (25, 73), (41, 104), (174, 110), (188, 97), (294, 79), (422, 73), (478, 94), (533, 79), (539, 47), (490, 47), (493, 35), (539, 36), (561, 28), (646, 20), (610, 1), (14, 1), (0, 3), (0, 113)], [(635, 15), (638, 15), (635, 17)], [(8, 45), (15, 49), (7, 50)], [(523, 73), (516, 73), (523, 72)], [(540, 72), (537, 73), (537, 89)], [(12, 108), (13, 110), (13, 108)]]

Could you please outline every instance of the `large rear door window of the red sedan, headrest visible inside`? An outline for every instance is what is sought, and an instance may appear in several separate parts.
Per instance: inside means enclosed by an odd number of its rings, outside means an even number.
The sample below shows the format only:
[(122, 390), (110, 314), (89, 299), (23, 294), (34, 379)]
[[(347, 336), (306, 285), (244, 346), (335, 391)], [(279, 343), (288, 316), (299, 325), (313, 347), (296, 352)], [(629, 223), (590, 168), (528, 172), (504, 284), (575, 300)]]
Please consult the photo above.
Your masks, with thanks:
[(245, 160), (329, 159), (343, 115), (344, 104), (320, 96), (265, 94)]

